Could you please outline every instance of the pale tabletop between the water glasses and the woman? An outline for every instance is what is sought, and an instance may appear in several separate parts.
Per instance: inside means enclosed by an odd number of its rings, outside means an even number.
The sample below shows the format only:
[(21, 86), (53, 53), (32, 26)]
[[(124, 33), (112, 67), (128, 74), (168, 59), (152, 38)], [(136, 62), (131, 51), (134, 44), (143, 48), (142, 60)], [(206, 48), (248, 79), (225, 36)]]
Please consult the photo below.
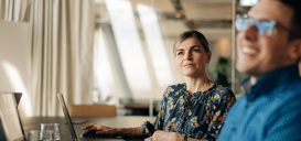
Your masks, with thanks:
[[(82, 127), (89, 123), (97, 123), (114, 128), (130, 128), (130, 127), (140, 127), (144, 121), (153, 122), (155, 117), (136, 117), (136, 116), (127, 116), (127, 117), (101, 117), (101, 118), (72, 118), (72, 119), (88, 119), (88, 122), (82, 124), (73, 124), (77, 138), (83, 132)], [(22, 118), (22, 124), (25, 133), (29, 130), (40, 130), (40, 123), (60, 123), (61, 124), (61, 140), (62, 141), (71, 141), (72, 137), (69, 133), (68, 126), (65, 124), (66, 120), (64, 117), (30, 117)], [(133, 138), (128, 139), (125, 138), (126, 141), (143, 141), (142, 138)]]

